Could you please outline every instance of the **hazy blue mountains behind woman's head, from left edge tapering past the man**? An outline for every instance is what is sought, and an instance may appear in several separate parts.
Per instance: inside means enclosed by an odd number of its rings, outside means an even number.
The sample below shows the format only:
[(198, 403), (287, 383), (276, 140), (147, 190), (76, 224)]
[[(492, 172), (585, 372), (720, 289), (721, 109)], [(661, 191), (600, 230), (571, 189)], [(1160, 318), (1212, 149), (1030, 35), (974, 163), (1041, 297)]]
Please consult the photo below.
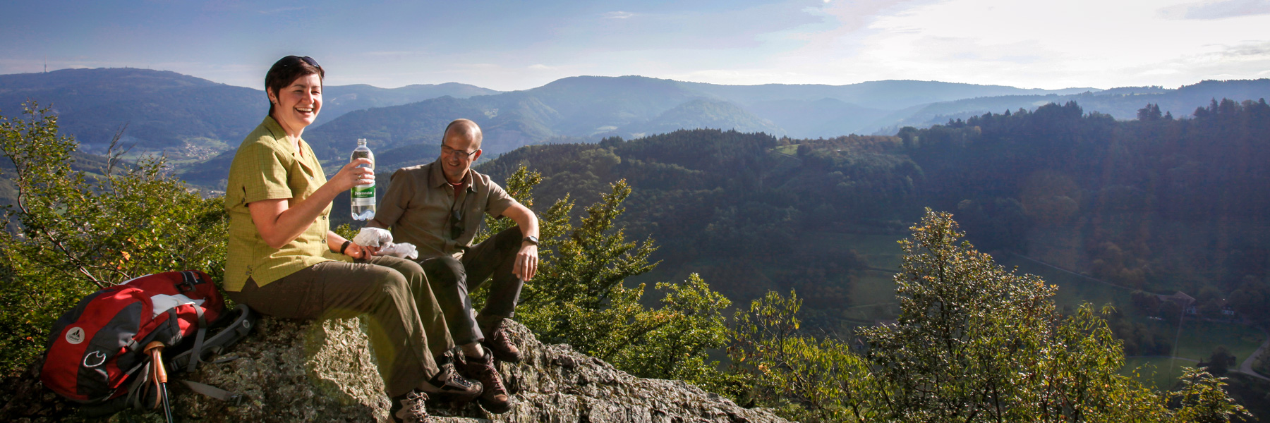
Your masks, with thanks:
[[(371, 107), (415, 103), (452, 95), (499, 91), (466, 84), (329, 85), (320, 121)], [(0, 75), (0, 112), (17, 116), (28, 99), (58, 113), (62, 133), (86, 151), (99, 150), (124, 124), (124, 144), (164, 151), (177, 160), (206, 160), (232, 150), (268, 111), (264, 90), (234, 86), (171, 71), (147, 69), (65, 69)], [(204, 156), (187, 152), (201, 151)]]

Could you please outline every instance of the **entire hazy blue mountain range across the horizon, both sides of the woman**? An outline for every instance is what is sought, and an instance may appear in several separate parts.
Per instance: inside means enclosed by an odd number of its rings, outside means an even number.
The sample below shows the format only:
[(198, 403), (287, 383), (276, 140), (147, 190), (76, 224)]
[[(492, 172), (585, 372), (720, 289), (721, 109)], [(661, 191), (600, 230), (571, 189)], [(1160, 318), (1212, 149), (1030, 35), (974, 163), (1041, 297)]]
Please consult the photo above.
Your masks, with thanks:
[[(574, 76), (519, 91), (474, 85), (326, 86), (319, 122), (305, 140), (326, 160), (343, 160), (368, 138), (384, 166), (434, 158), (446, 123), (471, 118), (493, 158), (544, 142), (634, 138), (679, 128), (723, 128), (776, 136), (893, 135), (986, 112), (1078, 102), (1086, 112), (1132, 119), (1147, 103), (1176, 117), (1212, 99), (1270, 97), (1270, 80), (1203, 81), (1099, 90), (1020, 89), (939, 81), (888, 80), (850, 85), (715, 85), (643, 76)], [(187, 180), (216, 185), (232, 150), (263, 118), (264, 93), (170, 71), (80, 69), (0, 75), (0, 113), (14, 116), (36, 99), (61, 116), (62, 132), (100, 152), (123, 124), (135, 151), (163, 151)], [(424, 147), (431, 146), (431, 147)]]

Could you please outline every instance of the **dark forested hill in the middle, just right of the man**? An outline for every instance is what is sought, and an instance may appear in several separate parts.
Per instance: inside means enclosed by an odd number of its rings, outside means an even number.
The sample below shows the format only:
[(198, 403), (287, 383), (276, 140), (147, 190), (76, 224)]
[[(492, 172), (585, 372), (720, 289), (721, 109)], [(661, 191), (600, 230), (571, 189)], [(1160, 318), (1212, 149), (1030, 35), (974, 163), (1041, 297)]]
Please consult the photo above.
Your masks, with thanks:
[[(540, 197), (592, 202), (607, 183), (634, 188), (631, 234), (660, 244), (663, 268), (691, 267), (739, 299), (790, 287), (813, 306), (841, 305), (864, 263), (801, 234), (903, 227), (922, 180), (895, 137), (841, 137), (795, 146), (762, 133), (697, 130), (598, 145), (530, 146), (480, 169), (500, 178), (519, 164), (541, 171)], [(814, 146), (813, 146), (814, 145)], [(690, 265), (691, 263), (691, 265)], [(770, 269), (771, 272), (762, 272)]]

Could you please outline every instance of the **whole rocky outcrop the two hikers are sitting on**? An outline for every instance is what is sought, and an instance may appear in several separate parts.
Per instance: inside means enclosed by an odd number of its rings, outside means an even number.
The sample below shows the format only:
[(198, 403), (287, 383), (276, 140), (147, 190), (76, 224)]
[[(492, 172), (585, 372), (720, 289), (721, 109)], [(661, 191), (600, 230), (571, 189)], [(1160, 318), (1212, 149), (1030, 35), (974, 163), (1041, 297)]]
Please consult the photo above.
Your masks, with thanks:
[[(512, 338), (521, 363), (500, 363), (516, 395), (505, 414), (475, 403), (433, 404), (442, 422), (785, 422), (682, 381), (639, 379), (569, 346), (544, 346), (522, 325)], [(389, 401), (357, 319), (263, 319), (248, 340), (189, 379), (243, 394), (227, 404), (177, 396), (184, 422), (385, 422)]]

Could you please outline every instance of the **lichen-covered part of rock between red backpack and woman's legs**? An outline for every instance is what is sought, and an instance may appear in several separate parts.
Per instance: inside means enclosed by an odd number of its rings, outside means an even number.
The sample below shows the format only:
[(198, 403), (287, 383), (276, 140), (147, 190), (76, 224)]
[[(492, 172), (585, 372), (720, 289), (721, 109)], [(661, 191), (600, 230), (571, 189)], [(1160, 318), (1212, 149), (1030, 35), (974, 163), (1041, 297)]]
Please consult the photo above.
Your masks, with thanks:
[(358, 319), (300, 321), (263, 318), (227, 357), (192, 381), (241, 394), (234, 404), (197, 394), (174, 406), (193, 422), (377, 422), (387, 418), (366, 333)]

